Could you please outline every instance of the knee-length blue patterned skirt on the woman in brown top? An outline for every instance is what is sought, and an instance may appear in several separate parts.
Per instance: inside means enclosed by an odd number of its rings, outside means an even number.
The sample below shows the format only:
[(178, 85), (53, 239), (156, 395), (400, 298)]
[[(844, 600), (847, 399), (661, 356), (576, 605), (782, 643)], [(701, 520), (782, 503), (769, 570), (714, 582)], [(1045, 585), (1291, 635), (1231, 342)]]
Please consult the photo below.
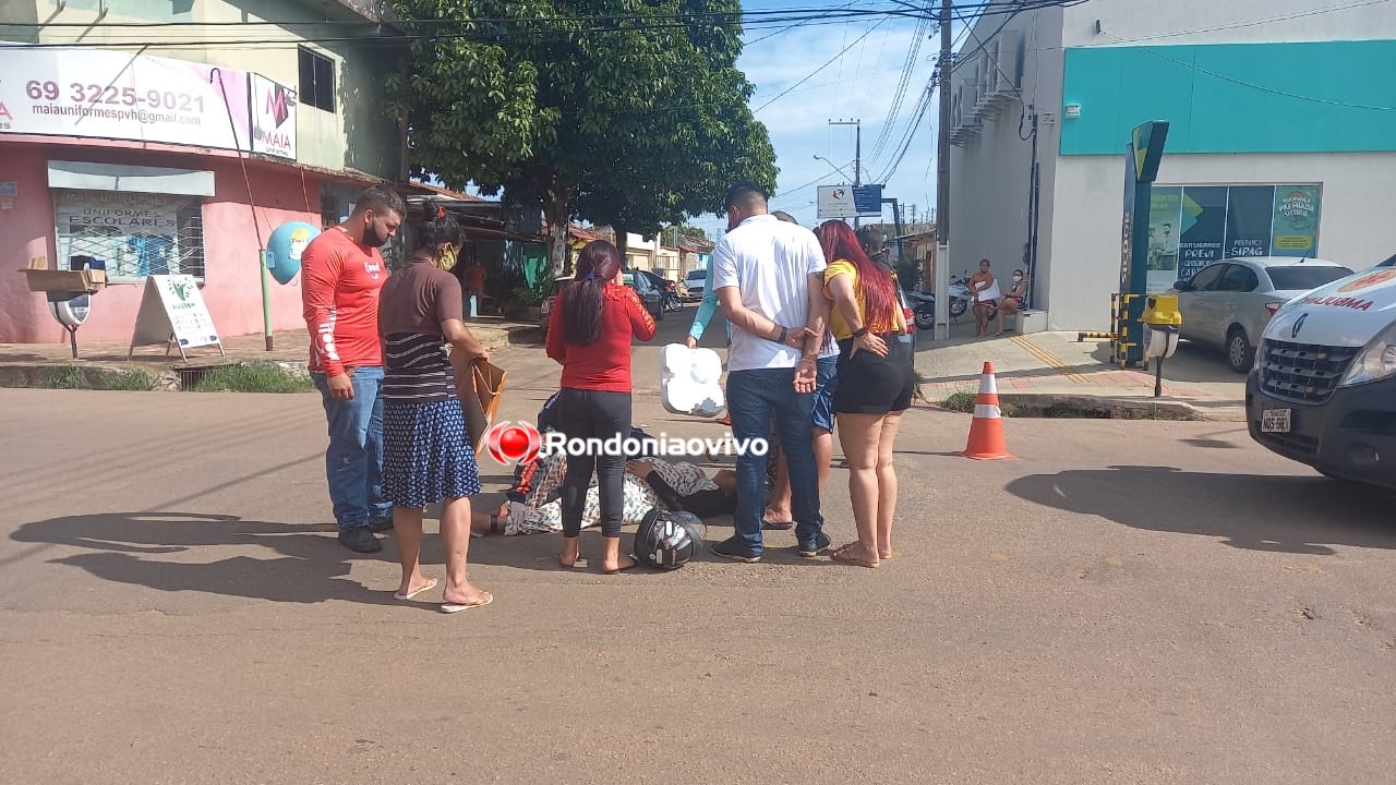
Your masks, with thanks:
[(383, 494), (419, 508), (480, 492), (461, 401), (383, 402)]

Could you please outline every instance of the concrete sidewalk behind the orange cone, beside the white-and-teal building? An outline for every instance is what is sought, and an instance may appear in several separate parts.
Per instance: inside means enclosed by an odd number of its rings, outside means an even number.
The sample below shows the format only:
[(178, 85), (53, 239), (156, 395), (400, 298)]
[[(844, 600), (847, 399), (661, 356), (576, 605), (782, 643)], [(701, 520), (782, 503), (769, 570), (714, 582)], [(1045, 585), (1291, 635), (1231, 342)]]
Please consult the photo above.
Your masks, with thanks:
[(1231, 372), (1220, 351), (1187, 341), (1163, 363), (1163, 395), (1153, 397), (1150, 370), (1121, 369), (1110, 360), (1110, 342), (1076, 341), (1076, 332), (1034, 332), (974, 338), (973, 321), (951, 325), (951, 338), (917, 335), (916, 369), (921, 392), (944, 401), (952, 392), (979, 390), (984, 363), (994, 363), (1005, 404), (1090, 404), (1160, 408), (1191, 419), (1245, 420), (1245, 377)]

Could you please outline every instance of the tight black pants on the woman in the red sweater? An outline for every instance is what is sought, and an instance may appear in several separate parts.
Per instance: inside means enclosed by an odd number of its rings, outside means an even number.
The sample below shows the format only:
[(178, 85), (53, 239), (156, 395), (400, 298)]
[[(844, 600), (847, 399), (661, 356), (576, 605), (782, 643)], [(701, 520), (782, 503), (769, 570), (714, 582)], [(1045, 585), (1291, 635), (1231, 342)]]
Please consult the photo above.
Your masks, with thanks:
[[(630, 436), (630, 392), (602, 392), (564, 387), (557, 397), (558, 429), (572, 439), (611, 439)], [(582, 507), (586, 489), (596, 472), (600, 501), (602, 536), (620, 536), (621, 511), (625, 507), (625, 455), (567, 455), (563, 479), (563, 536), (582, 532)]]

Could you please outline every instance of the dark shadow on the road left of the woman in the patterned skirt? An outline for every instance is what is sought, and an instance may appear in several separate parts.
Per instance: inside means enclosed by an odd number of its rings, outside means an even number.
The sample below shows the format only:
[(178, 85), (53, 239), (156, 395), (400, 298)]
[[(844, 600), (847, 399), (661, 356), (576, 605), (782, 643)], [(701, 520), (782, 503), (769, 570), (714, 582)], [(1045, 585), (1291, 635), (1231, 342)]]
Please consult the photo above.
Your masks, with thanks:
[[(350, 555), (334, 536), (311, 525), (205, 513), (102, 513), (25, 524), (11, 539), (84, 549), (84, 553), (53, 559), (50, 564), (68, 564), (106, 581), (158, 591), (202, 591), (297, 603), (328, 599), (395, 603), (391, 592), (370, 591), (348, 578), (350, 559), (392, 560), (391, 543), (384, 543), (380, 553)], [(258, 546), (281, 556), (239, 555), (207, 560), (204, 555), (216, 555), (216, 546)], [(187, 560), (176, 555), (186, 555)]]

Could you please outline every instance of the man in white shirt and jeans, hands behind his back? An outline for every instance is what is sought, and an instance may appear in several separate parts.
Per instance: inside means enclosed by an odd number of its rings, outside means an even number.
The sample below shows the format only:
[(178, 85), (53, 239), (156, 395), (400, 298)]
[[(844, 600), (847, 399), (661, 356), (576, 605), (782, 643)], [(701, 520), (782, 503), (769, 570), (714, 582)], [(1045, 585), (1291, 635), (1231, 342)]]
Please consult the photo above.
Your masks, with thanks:
[[(824, 250), (814, 232), (771, 215), (766, 194), (741, 183), (727, 191), (727, 233), (712, 253), (718, 305), (732, 323), (727, 411), (733, 436), (765, 439), (772, 420), (790, 475), (796, 549), (818, 556), (829, 546), (819, 515), (810, 418), (817, 360), (829, 320)], [(765, 457), (737, 457), (736, 535), (712, 552), (759, 562), (765, 550)]]

